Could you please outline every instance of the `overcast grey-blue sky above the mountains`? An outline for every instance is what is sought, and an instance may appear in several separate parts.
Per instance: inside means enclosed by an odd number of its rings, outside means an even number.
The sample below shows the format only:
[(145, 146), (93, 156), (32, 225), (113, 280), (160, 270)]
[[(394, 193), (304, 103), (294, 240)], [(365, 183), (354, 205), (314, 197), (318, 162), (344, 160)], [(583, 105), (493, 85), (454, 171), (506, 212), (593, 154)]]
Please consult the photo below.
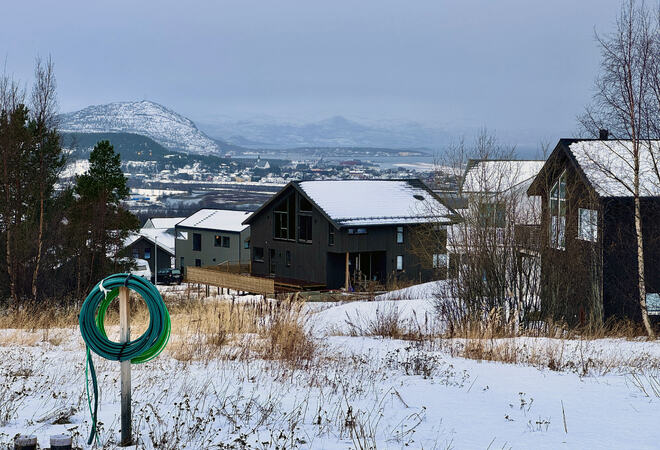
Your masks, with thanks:
[(573, 134), (620, 0), (6, 1), (5, 70), (53, 58), (62, 112), (152, 100), (193, 120), (335, 115)]

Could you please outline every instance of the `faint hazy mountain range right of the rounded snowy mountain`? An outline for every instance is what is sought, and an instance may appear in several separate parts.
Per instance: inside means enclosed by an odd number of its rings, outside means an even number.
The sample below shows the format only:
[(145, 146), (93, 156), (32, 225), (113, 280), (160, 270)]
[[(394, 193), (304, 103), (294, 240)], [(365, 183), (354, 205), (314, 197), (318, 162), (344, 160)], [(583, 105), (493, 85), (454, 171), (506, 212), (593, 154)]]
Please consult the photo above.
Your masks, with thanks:
[(201, 121), (199, 127), (210, 136), (252, 149), (374, 147), (424, 150), (437, 148), (449, 140), (441, 130), (415, 122), (367, 125), (342, 116), (304, 124), (264, 119)]

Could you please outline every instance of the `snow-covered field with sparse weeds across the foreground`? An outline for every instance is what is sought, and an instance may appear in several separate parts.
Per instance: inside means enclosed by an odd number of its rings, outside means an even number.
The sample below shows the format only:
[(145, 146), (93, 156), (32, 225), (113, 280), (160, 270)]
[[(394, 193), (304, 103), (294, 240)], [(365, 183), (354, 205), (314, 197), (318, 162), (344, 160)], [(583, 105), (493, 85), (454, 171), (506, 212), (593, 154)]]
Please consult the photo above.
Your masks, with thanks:
[[(365, 323), (393, 307), (402, 320), (432, 314), (428, 299), (414, 298), (423, 289), (407, 293), (311, 304), (320, 347), (304, 366), (179, 361), (169, 350), (134, 365), (138, 448), (658, 448), (660, 343), (494, 340), (520, 350), (507, 364), (452, 356), (467, 345), (461, 340), (349, 335), (346, 318), (356, 314)], [(42, 447), (52, 434), (72, 433), (86, 447), (78, 330), (0, 330), (0, 358), (0, 447), (20, 432)], [(115, 448), (119, 365), (95, 363), (99, 447)]]

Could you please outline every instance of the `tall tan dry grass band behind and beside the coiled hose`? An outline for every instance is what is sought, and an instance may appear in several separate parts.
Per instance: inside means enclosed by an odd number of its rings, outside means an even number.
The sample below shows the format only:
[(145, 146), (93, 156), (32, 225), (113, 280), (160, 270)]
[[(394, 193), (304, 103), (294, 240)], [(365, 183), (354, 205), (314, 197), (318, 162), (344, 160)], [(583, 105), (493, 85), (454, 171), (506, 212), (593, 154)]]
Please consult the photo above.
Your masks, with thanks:
[[(238, 302), (202, 299), (189, 291), (183, 295), (166, 293), (164, 300), (172, 321), (166, 352), (179, 361), (261, 357), (298, 367), (307, 364), (316, 353), (317, 343), (307, 326), (304, 301), (297, 295), (281, 300)], [(78, 306), (50, 303), (0, 311), (0, 345), (59, 345), (63, 335), (78, 326), (78, 311)], [(144, 332), (148, 322), (144, 303), (131, 295), (132, 335)], [(105, 325), (108, 337), (118, 340), (118, 302), (108, 308)]]

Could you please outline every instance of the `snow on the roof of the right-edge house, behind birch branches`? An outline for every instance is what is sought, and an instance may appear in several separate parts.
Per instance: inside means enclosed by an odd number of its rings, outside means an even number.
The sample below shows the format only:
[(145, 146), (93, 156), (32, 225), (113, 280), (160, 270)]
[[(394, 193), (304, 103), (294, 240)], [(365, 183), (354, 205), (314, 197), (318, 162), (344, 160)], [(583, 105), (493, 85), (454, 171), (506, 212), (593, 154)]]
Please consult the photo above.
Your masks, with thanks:
[[(640, 149), (639, 190), (642, 197), (660, 195), (660, 180), (655, 173), (653, 154), (660, 152), (660, 141), (642, 141)], [(582, 168), (598, 195), (632, 197), (632, 142), (621, 140), (577, 141), (569, 151)]]

